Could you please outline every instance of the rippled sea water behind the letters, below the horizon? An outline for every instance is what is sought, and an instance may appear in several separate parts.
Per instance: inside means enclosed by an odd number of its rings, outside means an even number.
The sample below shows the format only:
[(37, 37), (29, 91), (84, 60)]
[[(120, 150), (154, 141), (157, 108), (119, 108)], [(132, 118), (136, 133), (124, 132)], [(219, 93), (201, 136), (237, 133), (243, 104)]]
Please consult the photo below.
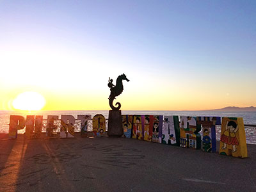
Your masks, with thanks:
[[(24, 113), (22, 111), (0, 111), (0, 133), (8, 133), (10, 115), (43, 115), (47, 119), (47, 115), (92, 115), (102, 114), (108, 119), (108, 111), (38, 111), (36, 113)], [(256, 111), (237, 111), (237, 112), (223, 112), (223, 111), (122, 111), (122, 115), (184, 115), (184, 116), (227, 116), (227, 117), (243, 117), (244, 124), (255, 125), (254, 127), (245, 126), (246, 142), (256, 144)], [(217, 127), (216, 138), (220, 138), (220, 128)], [(75, 131), (79, 131), (80, 127), (77, 125)], [(24, 132), (25, 129), (18, 131)], [(44, 128), (43, 128), (44, 131)]]

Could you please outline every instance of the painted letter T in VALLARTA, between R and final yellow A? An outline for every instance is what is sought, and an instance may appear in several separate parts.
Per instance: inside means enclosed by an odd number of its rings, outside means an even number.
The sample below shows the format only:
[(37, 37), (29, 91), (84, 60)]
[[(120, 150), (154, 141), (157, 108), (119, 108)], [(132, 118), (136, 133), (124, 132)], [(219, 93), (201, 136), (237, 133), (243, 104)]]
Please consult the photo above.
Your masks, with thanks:
[(216, 152), (216, 125), (221, 125), (220, 116), (197, 116), (196, 124), (203, 131), (202, 150)]

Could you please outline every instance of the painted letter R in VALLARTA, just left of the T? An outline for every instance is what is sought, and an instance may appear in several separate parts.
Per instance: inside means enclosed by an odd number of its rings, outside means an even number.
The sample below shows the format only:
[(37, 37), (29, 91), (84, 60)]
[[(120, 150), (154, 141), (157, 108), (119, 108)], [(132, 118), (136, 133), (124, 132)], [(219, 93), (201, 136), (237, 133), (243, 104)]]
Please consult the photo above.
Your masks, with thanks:
[(193, 116), (180, 116), (180, 147), (201, 148), (201, 128), (196, 126)]

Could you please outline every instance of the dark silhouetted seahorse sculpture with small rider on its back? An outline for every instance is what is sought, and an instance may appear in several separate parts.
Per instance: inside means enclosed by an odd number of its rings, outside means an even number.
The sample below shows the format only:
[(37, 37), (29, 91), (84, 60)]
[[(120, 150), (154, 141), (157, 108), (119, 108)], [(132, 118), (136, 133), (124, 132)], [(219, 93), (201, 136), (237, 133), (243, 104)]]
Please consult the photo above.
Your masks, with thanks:
[(118, 105), (117, 107), (113, 106), (113, 101), (114, 99), (116, 99), (116, 96), (120, 95), (123, 90), (124, 90), (124, 86), (123, 86), (123, 83), (122, 81), (123, 80), (126, 80), (126, 81), (130, 81), (129, 79), (127, 79), (127, 77), (125, 76), (125, 74), (122, 74), (121, 76), (118, 76), (117, 79), (116, 79), (116, 85), (114, 85), (112, 82), (113, 82), (113, 79), (110, 79), (109, 77), (109, 80), (108, 80), (108, 86), (110, 88), (110, 95), (109, 95), (109, 106), (111, 107), (111, 109), (113, 109), (113, 111), (118, 111), (120, 108), (121, 108), (121, 104), (120, 102), (116, 102), (115, 105)]

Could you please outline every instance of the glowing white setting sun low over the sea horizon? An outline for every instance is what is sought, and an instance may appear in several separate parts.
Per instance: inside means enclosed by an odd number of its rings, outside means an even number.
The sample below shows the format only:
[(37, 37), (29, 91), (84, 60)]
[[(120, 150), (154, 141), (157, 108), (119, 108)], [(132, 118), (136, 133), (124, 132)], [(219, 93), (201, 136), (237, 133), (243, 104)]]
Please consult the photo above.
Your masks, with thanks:
[(12, 102), (13, 108), (25, 111), (38, 111), (44, 108), (44, 105), (44, 97), (36, 92), (20, 93)]

